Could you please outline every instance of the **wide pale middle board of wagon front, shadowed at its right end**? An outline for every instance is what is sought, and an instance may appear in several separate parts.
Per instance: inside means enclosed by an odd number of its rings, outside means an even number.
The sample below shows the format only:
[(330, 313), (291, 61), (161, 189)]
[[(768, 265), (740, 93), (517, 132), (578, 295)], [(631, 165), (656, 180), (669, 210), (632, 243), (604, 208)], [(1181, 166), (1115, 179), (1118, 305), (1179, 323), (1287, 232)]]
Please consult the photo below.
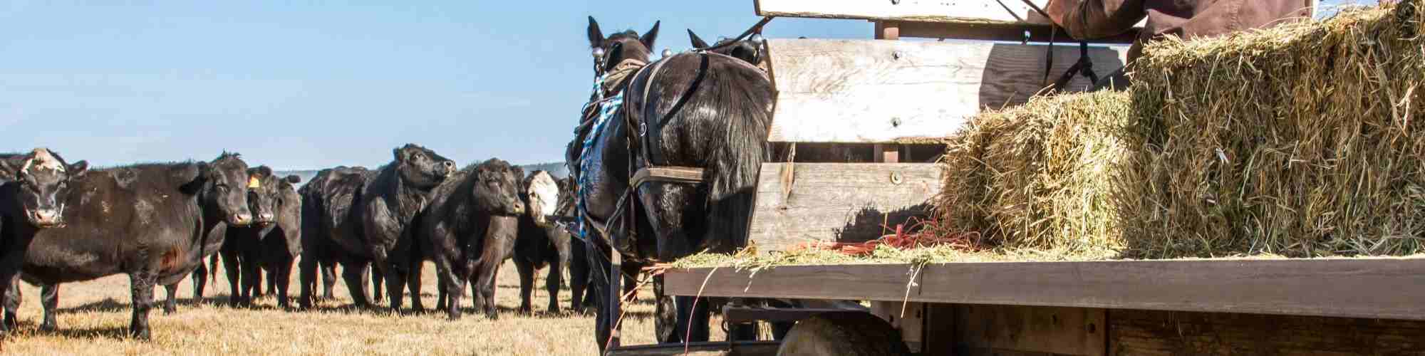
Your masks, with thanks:
[[(1022, 104), (1045, 84), (1047, 46), (884, 40), (770, 40), (772, 142), (940, 140), (983, 108)], [(1127, 47), (1090, 47), (1100, 75)], [(1054, 81), (1079, 48), (1056, 46)], [(1076, 77), (1067, 90), (1092, 83)]]

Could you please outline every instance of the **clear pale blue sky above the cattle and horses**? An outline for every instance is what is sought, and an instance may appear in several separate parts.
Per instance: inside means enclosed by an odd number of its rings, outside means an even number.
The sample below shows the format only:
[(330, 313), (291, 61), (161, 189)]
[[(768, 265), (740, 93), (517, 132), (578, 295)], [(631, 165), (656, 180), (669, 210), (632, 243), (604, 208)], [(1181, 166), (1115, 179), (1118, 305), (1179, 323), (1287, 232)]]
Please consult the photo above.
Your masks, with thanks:
[[(125, 3), (0, 1), (0, 151), (118, 165), (229, 150), (325, 168), (380, 165), (419, 142), (460, 164), (560, 161), (591, 80), (586, 16), (606, 33), (663, 20), (658, 50), (687, 48), (684, 28), (714, 40), (758, 20), (751, 0)], [(767, 27), (871, 33), (855, 20)]]

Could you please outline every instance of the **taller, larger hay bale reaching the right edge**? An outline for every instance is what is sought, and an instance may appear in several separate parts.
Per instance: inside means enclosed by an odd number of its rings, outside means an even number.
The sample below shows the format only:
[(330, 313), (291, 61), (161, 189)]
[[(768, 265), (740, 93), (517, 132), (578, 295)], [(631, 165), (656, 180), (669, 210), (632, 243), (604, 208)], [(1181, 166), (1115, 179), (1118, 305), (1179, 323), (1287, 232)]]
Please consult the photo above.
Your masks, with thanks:
[(1422, 252), (1419, 6), (1149, 46), (1124, 135), (1126, 252)]

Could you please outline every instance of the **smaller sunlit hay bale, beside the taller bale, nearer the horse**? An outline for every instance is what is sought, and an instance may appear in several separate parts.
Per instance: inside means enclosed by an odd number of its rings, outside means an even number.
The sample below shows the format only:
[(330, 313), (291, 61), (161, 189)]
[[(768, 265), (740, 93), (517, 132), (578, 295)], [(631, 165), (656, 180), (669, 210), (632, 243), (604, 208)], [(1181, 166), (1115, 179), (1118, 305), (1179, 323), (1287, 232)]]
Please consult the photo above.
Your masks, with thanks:
[(1112, 179), (1129, 95), (1040, 97), (976, 115), (948, 140), (938, 214), (1000, 249), (1102, 253), (1123, 245)]

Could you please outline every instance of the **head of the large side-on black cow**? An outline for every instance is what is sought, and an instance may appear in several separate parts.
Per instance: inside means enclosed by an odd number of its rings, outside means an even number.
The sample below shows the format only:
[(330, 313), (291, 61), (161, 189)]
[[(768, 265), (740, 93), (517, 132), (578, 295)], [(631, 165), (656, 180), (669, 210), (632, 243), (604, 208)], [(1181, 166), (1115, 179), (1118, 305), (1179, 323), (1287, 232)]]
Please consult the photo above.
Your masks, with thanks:
[(211, 162), (198, 164), (198, 177), (188, 184), (200, 187), (200, 199), (209, 215), (221, 216), (229, 225), (252, 224), (248, 206), (248, 164), (235, 152), (222, 152)]

